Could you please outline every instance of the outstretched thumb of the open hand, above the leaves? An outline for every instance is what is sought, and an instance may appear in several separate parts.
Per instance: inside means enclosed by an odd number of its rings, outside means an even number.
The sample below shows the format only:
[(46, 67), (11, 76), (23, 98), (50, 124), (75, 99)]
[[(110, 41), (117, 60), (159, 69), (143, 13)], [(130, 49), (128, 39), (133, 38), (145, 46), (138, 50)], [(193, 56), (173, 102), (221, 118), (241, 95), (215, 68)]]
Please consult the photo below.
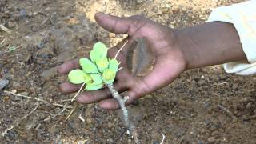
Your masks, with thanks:
[(129, 34), (133, 36), (146, 21), (142, 17), (119, 18), (110, 14), (97, 13), (95, 20), (102, 28), (116, 34)]

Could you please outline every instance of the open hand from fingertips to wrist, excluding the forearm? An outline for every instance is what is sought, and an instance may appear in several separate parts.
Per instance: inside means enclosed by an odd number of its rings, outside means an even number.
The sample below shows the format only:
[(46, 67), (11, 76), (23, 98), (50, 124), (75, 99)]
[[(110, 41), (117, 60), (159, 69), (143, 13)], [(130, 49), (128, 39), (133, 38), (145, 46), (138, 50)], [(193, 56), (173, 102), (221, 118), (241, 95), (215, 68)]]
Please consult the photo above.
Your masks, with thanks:
[[(178, 46), (175, 31), (170, 27), (150, 21), (142, 16), (118, 18), (98, 13), (95, 14), (95, 19), (98, 25), (112, 33), (128, 34), (127, 45), (136, 38), (146, 38), (154, 52), (154, 69), (150, 71), (150, 74), (143, 77), (136, 77), (127, 70), (126, 48), (122, 50), (122, 53), (118, 54), (118, 60), (121, 61), (123, 69), (118, 71), (114, 87), (119, 93), (127, 91), (126, 95), (129, 96), (129, 99), (126, 105), (143, 95), (168, 85), (186, 70), (186, 58)], [(109, 50), (110, 57), (114, 57), (121, 45), (118, 44)], [(78, 60), (66, 62), (58, 67), (58, 73), (68, 74), (70, 70), (78, 67)], [(64, 93), (73, 93), (80, 88), (80, 86), (73, 85), (70, 82), (64, 82), (60, 87)], [(119, 108), (118, 102), (111, 97), (110, 91), (106, 88), (86, 91), (78, 96), (77, 102), (99, 102), (98, 106), (104, 110), (116, 110)]]

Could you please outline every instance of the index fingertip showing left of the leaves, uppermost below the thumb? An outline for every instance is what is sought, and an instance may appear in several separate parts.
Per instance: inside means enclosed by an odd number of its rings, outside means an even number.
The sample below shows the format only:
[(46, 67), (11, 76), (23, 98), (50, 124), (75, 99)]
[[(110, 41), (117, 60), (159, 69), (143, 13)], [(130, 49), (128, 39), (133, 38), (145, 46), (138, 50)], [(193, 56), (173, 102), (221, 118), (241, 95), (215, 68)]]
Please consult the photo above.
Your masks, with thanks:
[(58, 66), (58, 74), (67, 74), (70, 70), (79, 69), (78, 59), (71, 60), (69, 62), (63, 63), (61, 66)]

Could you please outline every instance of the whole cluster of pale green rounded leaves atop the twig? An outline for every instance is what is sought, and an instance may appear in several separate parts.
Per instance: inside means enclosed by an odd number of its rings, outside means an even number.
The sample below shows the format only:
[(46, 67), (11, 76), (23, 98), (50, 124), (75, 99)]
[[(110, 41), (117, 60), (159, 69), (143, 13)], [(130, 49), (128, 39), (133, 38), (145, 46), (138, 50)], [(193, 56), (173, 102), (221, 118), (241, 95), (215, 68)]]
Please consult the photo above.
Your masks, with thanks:
[(94, 44), (89, 58), (80, 58), (81, 69), (71, 70), (68, 78), (73, 84), (86, 83), (86, 90), (101, 89), (104, 84), (111, 84), (118, 71), (119, 62), (107, 58), (107, 48), (102, 42)]

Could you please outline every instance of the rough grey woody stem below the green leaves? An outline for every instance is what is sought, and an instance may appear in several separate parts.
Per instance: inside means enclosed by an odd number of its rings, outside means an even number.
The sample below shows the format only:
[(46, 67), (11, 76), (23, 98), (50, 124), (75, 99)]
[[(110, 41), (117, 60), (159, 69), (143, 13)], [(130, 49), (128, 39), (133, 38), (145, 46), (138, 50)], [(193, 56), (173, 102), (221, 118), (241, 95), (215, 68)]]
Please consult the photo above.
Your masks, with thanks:
[(128, 115), (128, 110), (126, 109), (125, 102), (121, 95), (118, 93), (117, 90), (114, 89), (113, 84), (108, 84), (107, 87), (109, 88), (113, 98), (118, 101), (119, 106), (121, 107), (122, 110), (122, 115), (123, 115), (123, 121), (126, 124), (126, 127), (130, 130), (130, 122), (129, 122), (129, 115)]

